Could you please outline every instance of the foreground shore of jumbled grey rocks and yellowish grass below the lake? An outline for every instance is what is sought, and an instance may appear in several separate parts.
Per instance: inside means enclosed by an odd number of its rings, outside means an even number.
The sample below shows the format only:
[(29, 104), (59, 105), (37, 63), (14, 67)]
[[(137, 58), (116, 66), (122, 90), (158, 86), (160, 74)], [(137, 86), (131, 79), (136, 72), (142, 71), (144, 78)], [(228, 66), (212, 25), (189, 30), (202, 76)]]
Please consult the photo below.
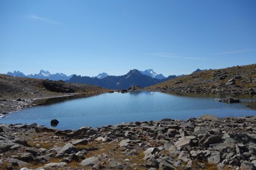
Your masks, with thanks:
[[(256, 117), (56, 130), (0, 124), (0, 169), (255, 169)], [(26, 168), (25, 168), (26, 167)]]

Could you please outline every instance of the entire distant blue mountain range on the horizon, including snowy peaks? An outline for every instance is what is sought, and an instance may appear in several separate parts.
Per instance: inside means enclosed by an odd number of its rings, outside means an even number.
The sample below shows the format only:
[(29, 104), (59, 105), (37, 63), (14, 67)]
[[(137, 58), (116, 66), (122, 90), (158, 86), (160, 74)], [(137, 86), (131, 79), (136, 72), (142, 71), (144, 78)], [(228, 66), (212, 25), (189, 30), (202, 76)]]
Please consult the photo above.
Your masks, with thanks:
[[(197, 73), (200, 70), (197, 69), (193, 73)], [(110, 89), (127, 89), (131, 86), (147, 87), (154, 84), (162, 83), (167, 80), (171, 80), (184, 75), (170, 75), (165, 77), (163, 74), (157, 74), (154, 70), (148, 69), (139, 71), (137, 69), (130, 70), (129, 73), (120, 76), (108, 75), (107, 73), (100, 73), (97, 76), (81, 76), (81, 75), (65, 75), (63, 73), (51, 74), (49, 71), (40, 70), (39, 74), (24, 75), (20, 71), (8, 72), (7, 75), (20, 76), (37, 79), (49, 79), (49, 80), (64, 80), (70, 83), (82, 83), (92, 84), (100, 87)]]

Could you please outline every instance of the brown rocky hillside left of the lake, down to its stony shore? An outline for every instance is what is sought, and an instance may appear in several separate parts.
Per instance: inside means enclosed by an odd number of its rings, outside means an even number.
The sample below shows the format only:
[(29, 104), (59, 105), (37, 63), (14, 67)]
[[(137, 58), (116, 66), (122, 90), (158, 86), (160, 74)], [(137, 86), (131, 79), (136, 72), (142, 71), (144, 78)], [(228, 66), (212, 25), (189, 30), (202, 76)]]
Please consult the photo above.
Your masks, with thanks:
[(88, 84), (65, 83), (61, 80), (32, 79), (0, 74), (0, 117), (31, 105), (35, 99), (98, 94), (110, 90)]

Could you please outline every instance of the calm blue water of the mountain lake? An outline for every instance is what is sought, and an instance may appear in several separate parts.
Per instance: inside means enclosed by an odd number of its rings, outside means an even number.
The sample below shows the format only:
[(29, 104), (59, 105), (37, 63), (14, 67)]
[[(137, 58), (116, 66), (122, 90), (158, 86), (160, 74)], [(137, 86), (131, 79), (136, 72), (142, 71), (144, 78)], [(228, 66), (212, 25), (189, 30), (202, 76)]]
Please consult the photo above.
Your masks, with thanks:
[(56, 118), (60, 121), (56, 129), (79, 129), (82, 126), (99, 127), (162, 118), (186, 120), (204, 114), (218, 117), (256, 116), (256, 111), (243, 104), (219, 103), (214, 101), (214, 97), (180, 96), (161, 92), (114, 92), (31, 107), (7, 114), (0, 119), (0, 124), (35, 122), (51, 127), (50, 121)]

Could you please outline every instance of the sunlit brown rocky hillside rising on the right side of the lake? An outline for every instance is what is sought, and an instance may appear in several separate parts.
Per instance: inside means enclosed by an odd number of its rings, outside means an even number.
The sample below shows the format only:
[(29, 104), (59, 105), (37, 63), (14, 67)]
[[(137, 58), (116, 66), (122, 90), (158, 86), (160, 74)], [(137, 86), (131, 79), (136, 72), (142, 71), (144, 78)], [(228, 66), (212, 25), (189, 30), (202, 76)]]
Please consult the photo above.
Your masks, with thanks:
[(256, 64), (207, 70), (145, 88), (148, 91), (256, 94)]

